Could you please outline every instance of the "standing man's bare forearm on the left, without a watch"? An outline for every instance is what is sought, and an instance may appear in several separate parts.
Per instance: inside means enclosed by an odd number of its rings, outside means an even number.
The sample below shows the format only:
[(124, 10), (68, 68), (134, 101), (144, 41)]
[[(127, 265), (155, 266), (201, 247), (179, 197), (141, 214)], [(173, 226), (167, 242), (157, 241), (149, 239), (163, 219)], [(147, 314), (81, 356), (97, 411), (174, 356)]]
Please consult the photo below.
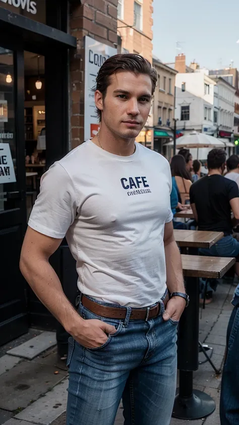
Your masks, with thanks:
[(34, 262), (21, 261), (21, 272), (40, 301), (71, 333), (74, 322), (83, 319), (71, 305), (63, 292), (61, 282), (46, 259)]

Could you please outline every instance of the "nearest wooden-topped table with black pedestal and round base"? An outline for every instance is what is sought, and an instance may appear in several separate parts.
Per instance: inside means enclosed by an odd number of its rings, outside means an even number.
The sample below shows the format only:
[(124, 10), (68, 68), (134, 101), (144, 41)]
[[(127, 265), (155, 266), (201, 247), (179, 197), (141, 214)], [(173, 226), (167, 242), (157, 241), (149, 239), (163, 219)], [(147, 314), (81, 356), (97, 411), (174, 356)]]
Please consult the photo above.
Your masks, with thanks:
[(193, 372), (198, 370), (199, 283), (198, 278), (221, 278), (235, 263), (235, 258), (182, 255), (186, 290), (190, 298), (178, 327), (177, 367), (180, 382), (172, 416), (200, 419), (215, 410), (214, 400), (203, 391), (193, 389)]

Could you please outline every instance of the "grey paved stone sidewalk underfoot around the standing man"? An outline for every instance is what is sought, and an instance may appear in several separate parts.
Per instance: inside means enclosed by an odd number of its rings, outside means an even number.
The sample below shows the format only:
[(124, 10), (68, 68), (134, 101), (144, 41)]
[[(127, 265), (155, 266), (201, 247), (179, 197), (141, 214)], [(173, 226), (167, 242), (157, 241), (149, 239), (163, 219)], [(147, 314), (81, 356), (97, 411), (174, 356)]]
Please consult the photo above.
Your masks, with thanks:
[[(232, 298), (235, 286), (229, 283), (220, 283), (216, 291), (214, 301), (206, 306), (200, 319), (200, 340), (213, 347), (212, 360), (220, 369), (224, 350), (226, 328), (232, 306)], [(35, 338), (38, 344), (42, 341), (41, 332), (31, 330), (29, 336), (19, 338), (8, 344), (7, 348), (0, 351), (0, 425), (65, 425), (66, 421), (66, 400), (67, 400), (67, 371), (59, 369), (56, 365), (56, 348), (48, 348), (39, 355), (26, 358), (23, 349), (16, 347), (27, 338), (39, 335)], [(33, 339), (28, 342), (32, 347)], [(39, 342), (40, 341), (40, 342)], [(50, 338), (50, 343), (52, 340)], [(27, 344), (24, 345), (24, 347)], [(15, 347), (15, 355), (7, 354), (7, 351)], [(41, 346), (40, 346), (41, 347)], [(39, 347), (39, 351), (40, 351)], [(9, 351), (11, 353), (11, 351)], [(21, 354), (22, 353), (22, 354)], [(2, 357), (1, 357), (2, 355)], [(21, 357), (24, 355), (25, 357)], [(202, 354), (200, 358), (203, 359)], [(221, 376), (215, 373), (209, 363), (199, 366), (194, 373), (194, 388), (210, 394), (216, 402), (215, 412), (206, 419), (188, 421), (171, 419), (170, 425), (219, 425), (219, 397), (220, 397)], [(118, 409), (114, 425), (123, 425), (123, 408)], [(105, 424), (107, 425), (107, 424)], [(163, 425), (163, 424), (162, 424)]]

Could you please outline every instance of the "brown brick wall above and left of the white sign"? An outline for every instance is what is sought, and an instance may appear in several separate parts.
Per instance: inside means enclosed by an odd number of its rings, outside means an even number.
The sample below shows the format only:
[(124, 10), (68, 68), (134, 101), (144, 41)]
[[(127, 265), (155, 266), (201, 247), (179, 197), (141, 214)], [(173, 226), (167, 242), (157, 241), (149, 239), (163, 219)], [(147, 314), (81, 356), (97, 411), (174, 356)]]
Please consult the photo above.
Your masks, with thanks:
[(77, 49), (70, 57), (71, 148), (84, 141), (84, 36), (115, 47), (117, 3), (117, 0), (71, 2), (70, 28), (71, 34), (77, 38)]

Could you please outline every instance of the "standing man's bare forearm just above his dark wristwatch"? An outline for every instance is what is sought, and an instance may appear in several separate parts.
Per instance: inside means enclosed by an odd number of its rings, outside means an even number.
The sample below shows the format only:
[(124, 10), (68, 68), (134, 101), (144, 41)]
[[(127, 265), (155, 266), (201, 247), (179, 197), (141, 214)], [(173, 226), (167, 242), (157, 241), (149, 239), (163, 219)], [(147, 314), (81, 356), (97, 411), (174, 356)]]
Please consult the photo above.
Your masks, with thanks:
[(165, 244), (167, 288), (169, 292), (185, 292), (181, 254), (175, 240)]

